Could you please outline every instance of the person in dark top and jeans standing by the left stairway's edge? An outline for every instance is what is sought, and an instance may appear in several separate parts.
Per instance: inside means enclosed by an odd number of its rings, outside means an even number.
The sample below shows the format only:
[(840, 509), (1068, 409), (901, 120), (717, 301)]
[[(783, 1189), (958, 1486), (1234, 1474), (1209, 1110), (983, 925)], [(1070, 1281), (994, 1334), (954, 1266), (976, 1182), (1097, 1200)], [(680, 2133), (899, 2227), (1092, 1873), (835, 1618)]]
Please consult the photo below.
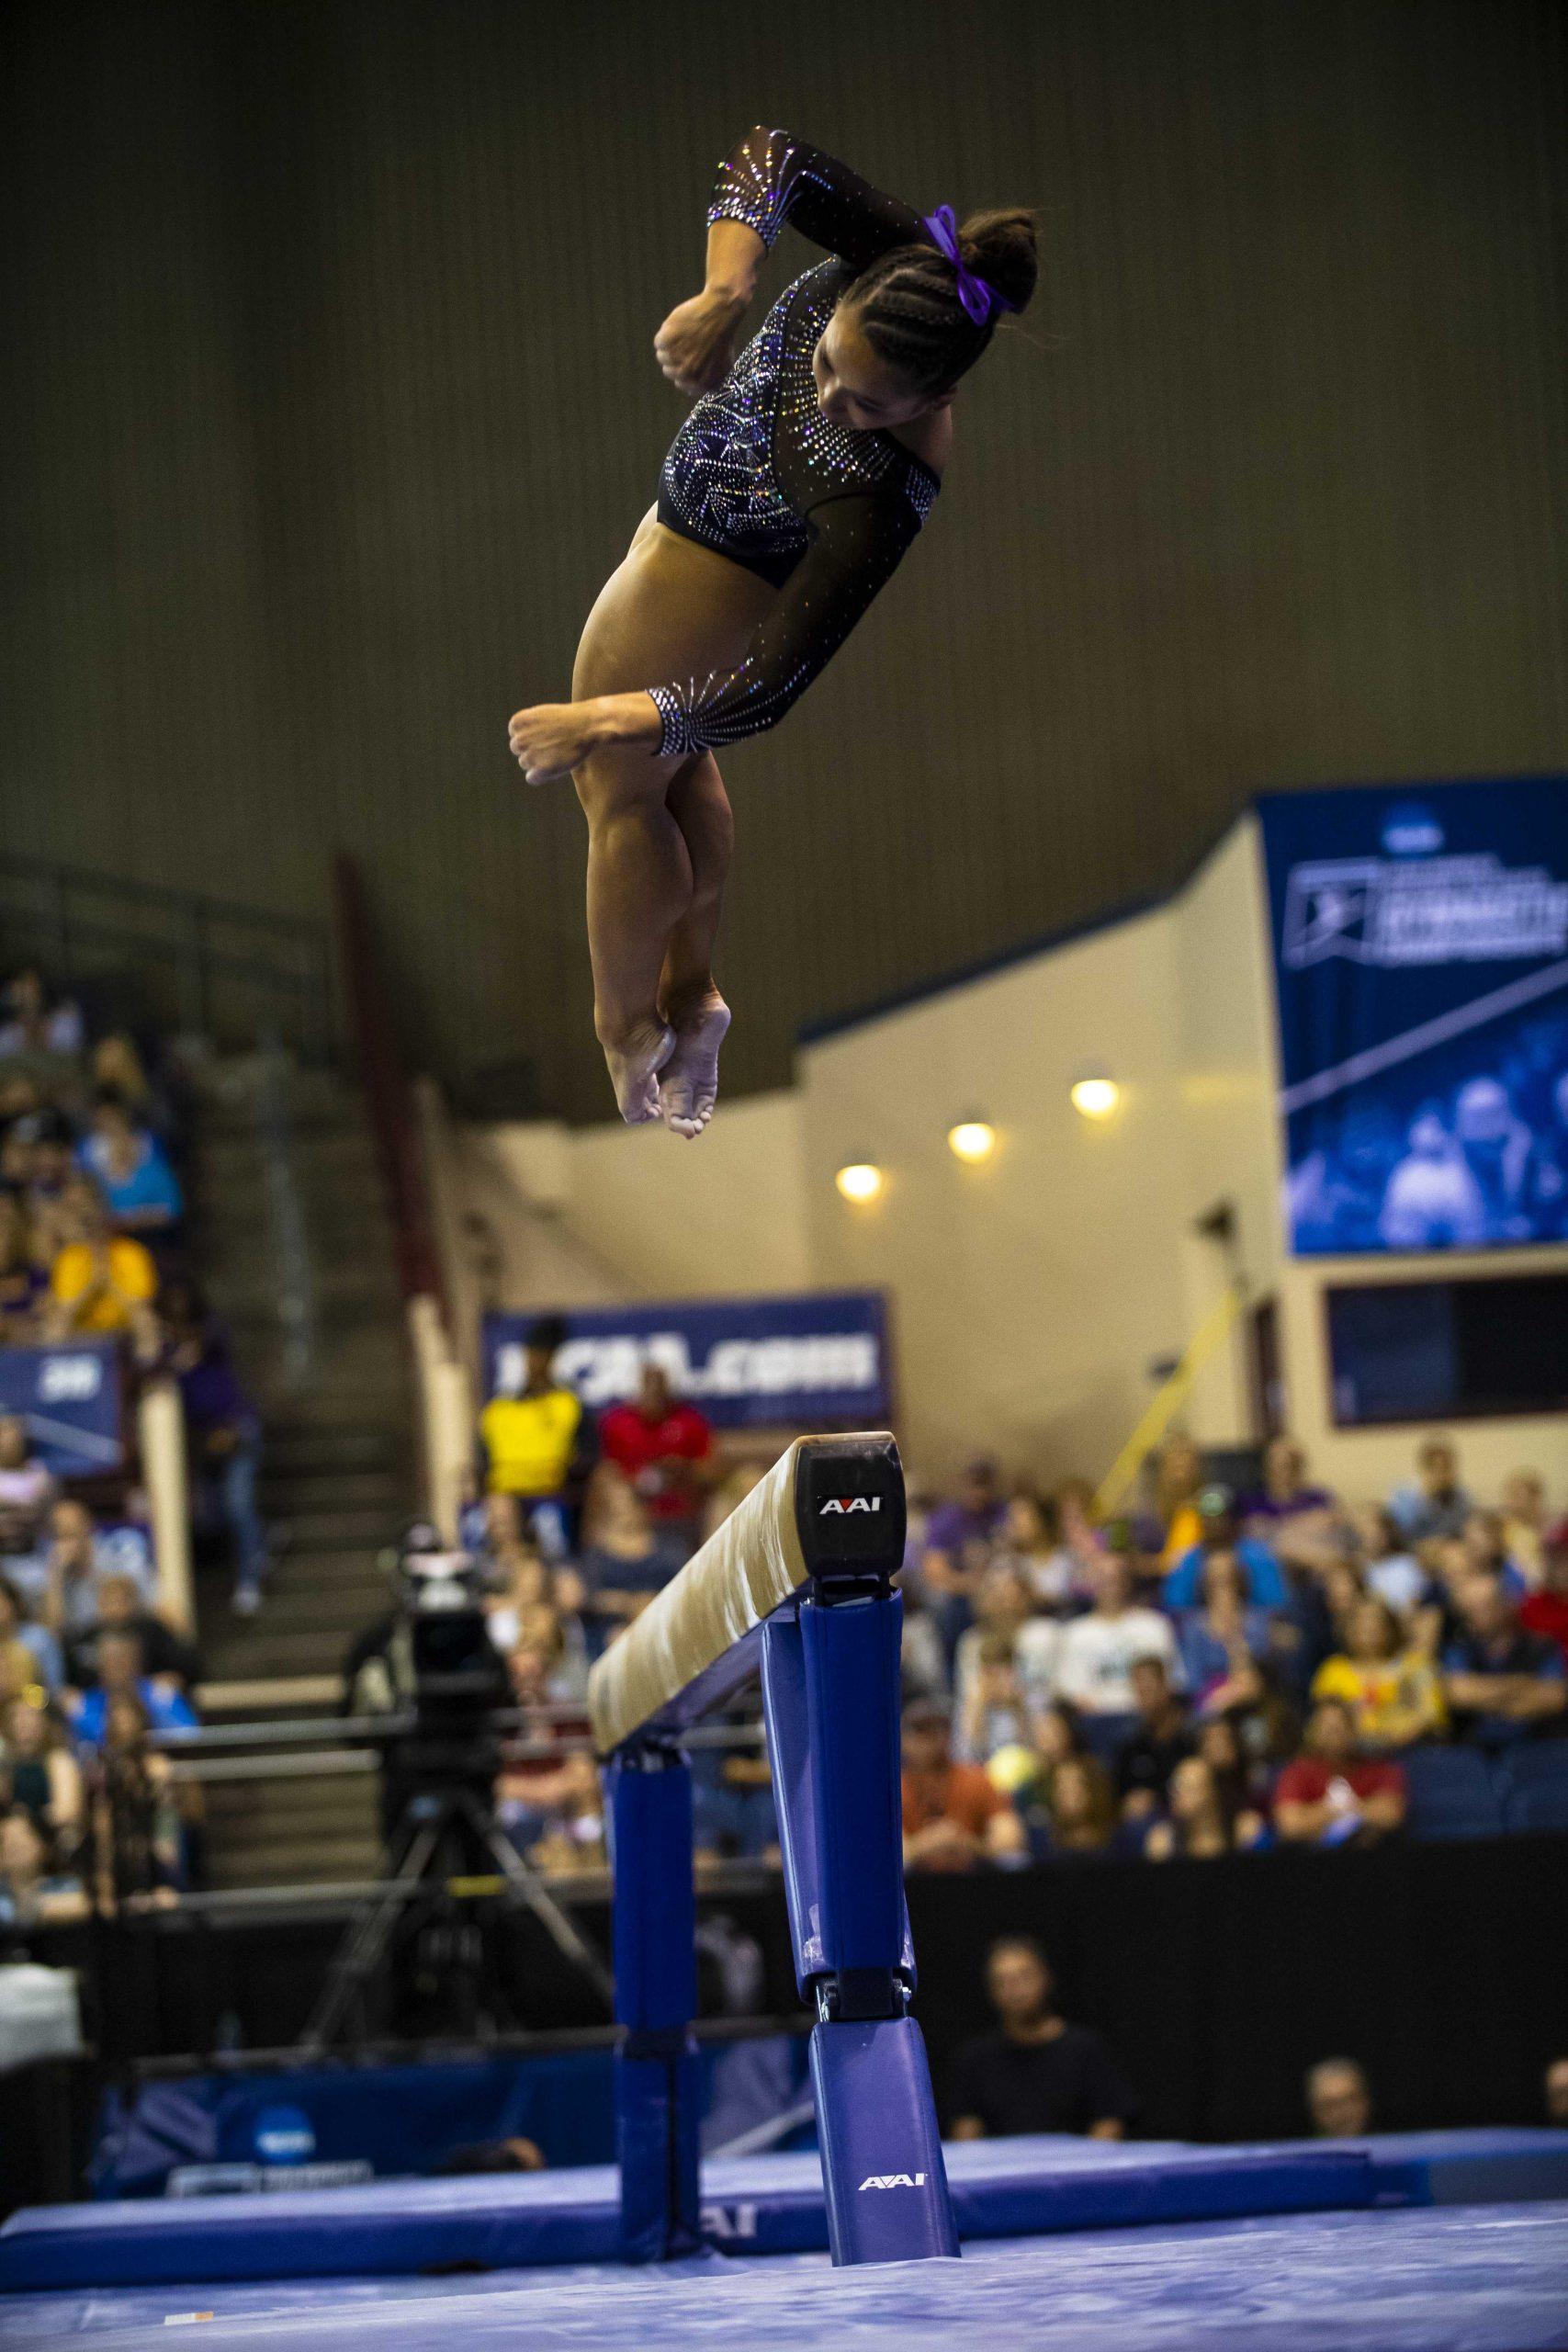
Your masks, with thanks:
[(186, 1416), (186, 1461), (200, 1531), (221, 1529), (233, 1550), (233, 1606), (261, 1606), (268, 1538), (256, 1508), (261, 1477), (261, 1416), (233, 1364), (228, 1331), (186, 1277), (162, 1296), (165, 1369), (179, 1381)]

